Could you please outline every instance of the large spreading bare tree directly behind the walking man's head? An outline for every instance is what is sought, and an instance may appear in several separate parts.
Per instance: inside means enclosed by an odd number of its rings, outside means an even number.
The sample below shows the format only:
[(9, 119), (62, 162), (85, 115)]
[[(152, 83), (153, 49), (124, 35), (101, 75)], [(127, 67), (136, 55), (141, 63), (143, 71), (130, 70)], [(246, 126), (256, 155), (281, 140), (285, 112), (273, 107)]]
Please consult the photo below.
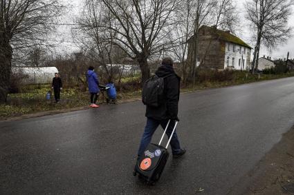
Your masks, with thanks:
[(138, 62), (142, 80), (147, 80), (150, 76), (149, 57), (158, 54), (163, 47), (169, 48), (167, 27), (174, 23), (174, 11), (180, 1), (101, 1), (111, 12), (113, 25), (100, 25), (100, 28), (116, 33), (116, 37), (109, 41), (125, 50), (129, 57)]

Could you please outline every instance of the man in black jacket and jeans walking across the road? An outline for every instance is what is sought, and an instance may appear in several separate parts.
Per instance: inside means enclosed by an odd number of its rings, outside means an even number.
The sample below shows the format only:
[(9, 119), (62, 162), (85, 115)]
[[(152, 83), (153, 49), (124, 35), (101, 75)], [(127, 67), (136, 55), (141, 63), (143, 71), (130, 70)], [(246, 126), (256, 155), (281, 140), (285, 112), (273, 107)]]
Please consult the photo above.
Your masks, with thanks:
[[(145, 131), (140, 141), (140, 147), (138, 150), (138, 156), (143, 154), (145, 148), (150, 143), (152, 135), (154, 134), (158, 125), (161, 125), (165, 129), (167, 122), (171, 119), (169, 127), (167, 128), (167, 136), (172, 134), (172, 130), (175, 125), (175, 121), (178, 120), (178, 100), (180, 96), (180, 81), (181, 78), (176, 75), (173, 68), (173, 61), (167, 57), (163, 59), (162, 65), (156, 71), (158, 77), (165, 77), (164, 90), (163, 90), (163, 103), (158, 107), (152, 107), (147, 105), (146, 114), (147, 123)], [(172, 140), (170, 141), (172, 146), (172, 154), (174, 158), (180, 157), (185, 154), (186, 150), (180, 147), (178, 136), (174, 132)]]

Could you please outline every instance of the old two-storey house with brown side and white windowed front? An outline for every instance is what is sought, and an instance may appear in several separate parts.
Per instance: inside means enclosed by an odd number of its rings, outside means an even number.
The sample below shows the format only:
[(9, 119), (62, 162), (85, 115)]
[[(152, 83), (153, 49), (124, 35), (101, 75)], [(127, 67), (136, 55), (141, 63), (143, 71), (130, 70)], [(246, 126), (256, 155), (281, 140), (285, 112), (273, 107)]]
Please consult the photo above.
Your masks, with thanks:
[[(188, 62), (194, 58), (194, 36), (189, 40)], [(203, 25), (199, 29), (197, 66), (223, 70), (248, 70), (250, 68), (251, 47), (230, 31), (217, 30)], [(201, 63), (202, 61), (202, 63)]]

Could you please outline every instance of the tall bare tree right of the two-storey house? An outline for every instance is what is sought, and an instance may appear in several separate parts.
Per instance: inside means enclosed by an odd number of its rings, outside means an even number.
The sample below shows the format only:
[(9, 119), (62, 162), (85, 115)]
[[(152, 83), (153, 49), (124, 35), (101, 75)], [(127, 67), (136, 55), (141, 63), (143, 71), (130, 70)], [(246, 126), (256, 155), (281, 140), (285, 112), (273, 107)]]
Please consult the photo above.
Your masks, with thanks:
[(252, 23), (253, 38), (256, 41), (252, 61), (252, 73), (258, 68), (260, 45), (275, 48), (291, 35), (288, 17), (293, 0), (249, 0), (245, 3), (246, 18)]

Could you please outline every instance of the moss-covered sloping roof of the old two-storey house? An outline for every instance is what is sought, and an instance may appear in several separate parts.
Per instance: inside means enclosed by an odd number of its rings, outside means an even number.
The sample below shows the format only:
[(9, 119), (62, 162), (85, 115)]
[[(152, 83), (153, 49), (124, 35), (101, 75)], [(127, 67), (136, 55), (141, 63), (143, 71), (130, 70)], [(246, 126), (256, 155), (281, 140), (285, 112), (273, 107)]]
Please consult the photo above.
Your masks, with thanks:
[[(208, 25), (202, 25), (201, 28), (207, 28), (207, 29), (209, 29), (211, 31), (214, 31), (214, 33), (219, 37), (219, 39), (221, 39), (223, 41), (228, 41), (228, 42), (231, 42), (231, 43), (236, 43), (238, 45), (242, 45), (242, 46), (244, 46), (246, 48), (252, 49), (250, 47), (250, 45), (248, 45), (247, 43), (245, 43), (239, 37), (236, 37), (235, 35), (230, 34), (229, 31), (223, 31), (223, 30), (215, 29), (214, 27), (210, 27)], [(192, 36), (192, 37), (194, 37), (194, 36)], [(192, 39), (192, 37), (190, 39)]]

